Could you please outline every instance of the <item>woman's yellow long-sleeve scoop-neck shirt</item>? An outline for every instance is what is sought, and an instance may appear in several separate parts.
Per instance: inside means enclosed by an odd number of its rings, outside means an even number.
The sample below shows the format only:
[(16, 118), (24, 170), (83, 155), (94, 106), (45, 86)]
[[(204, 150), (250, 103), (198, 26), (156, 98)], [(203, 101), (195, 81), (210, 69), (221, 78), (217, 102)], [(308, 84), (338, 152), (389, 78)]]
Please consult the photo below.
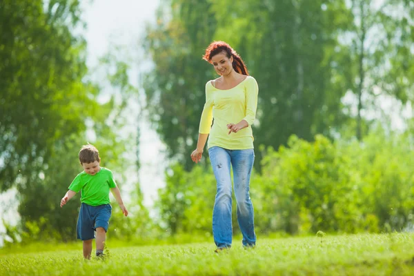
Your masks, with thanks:
[[(259, 87), (255, 78), (248, 76), (234, 88), (221, 90), (210, 81), (206, 83), (206, 103), (199, 124), (199, 133), (208, 134), (208, 148), (219, 146), (228, 150), (253, 148), (253, 131)], [(213, 127), (211, 124), (213, 122)], [(228, 134), (227, 124), (237, 124), (242, 119), (247, 128)]]

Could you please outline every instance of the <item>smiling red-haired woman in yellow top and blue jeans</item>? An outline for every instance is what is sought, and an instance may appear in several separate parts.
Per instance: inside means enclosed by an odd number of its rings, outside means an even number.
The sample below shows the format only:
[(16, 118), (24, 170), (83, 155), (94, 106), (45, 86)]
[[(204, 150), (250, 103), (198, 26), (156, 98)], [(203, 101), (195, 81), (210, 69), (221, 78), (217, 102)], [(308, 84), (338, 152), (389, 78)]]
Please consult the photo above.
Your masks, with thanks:
[(200, 161), (210, 133), (208, 155), (217, 180), (213, 209), (215, 252), (230, 248), (232, 243), (230, 165), (233, 166), (242, 243), (244, 247), (254, 247), (256, 235), (249, 186), (255, 160), (251, 125), (255, 121), (259, 88), (256, 80), (248, 75), (242, 59), (228, 43), (211, 43), (203, 59), (213, 64), (220, 77), (206, 83), (206, 103), (199, 124), (197, 148), (191, 159), (195, 163)]

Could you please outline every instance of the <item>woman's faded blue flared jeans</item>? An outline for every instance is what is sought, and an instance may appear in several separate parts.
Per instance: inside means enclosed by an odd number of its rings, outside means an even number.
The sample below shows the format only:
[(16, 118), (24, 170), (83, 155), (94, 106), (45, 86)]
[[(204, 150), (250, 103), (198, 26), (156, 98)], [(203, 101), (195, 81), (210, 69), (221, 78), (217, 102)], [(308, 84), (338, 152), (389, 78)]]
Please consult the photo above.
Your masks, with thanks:
[(211, 166), (217, 180), (217, 195), (213, 209), (213, 237), (218, 248), (230, 247), (232, 242), (232, 185), (230, 164), (233, 166), (237, 221), (243, 235), (244, 246), (255, 246), (256, 234), (253, 204), (250, 201), (250, 173), (255, 161), (255, 152), (248, 150), (226, 150), (219, 146), (208, 149)]

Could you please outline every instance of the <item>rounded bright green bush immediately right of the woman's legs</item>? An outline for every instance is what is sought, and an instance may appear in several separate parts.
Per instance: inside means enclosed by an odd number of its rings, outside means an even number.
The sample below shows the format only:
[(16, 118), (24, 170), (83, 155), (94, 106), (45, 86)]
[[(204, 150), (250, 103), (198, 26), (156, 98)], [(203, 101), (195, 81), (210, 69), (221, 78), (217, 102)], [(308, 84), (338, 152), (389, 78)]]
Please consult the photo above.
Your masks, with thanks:
[(320, 135), (314, 143), (293, 136), (288, 146), (270, 150), (263, 160), (259, 181), (264, 191), (258, 201), (270, 202), (261, 212), (275, 216), (266, 228), (288, 233), (355, 231), (358, 200), (347, 156)]

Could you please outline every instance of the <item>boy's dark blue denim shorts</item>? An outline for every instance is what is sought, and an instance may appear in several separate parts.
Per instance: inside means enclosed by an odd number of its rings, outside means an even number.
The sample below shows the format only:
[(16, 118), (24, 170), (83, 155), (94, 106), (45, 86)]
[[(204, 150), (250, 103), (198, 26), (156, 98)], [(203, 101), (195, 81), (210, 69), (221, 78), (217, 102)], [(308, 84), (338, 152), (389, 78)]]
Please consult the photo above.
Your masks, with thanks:
[(99, 206), (90, 206), (81, 204), (77, 222), (77, 238), (82, 241), (95, 238), (95, 230), (98, 227), (108, 231), (109, 219), (112, 214), (112, 206), (103, 204)]

